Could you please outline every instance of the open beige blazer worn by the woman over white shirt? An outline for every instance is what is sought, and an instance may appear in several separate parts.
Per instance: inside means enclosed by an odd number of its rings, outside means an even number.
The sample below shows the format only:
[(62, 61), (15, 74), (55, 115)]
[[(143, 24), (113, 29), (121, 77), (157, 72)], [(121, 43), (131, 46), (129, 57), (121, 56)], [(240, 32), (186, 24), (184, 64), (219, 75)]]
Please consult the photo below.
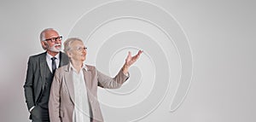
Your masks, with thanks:
[[(86, 65), (83, 68), (87, 96), (90, 103), (90, 121), (102, 122), (102, 112), (97, 100), (97, 86), (102, 88), (119, 88), (127, 78), (121, 70), (114, 77), (100, 73), (96, 67)], [(49, 119), (51, 122), (72, 122), (74, 108), (73, 76), (70, 64), (60, 67), (55, 72), (49, 94)]]

